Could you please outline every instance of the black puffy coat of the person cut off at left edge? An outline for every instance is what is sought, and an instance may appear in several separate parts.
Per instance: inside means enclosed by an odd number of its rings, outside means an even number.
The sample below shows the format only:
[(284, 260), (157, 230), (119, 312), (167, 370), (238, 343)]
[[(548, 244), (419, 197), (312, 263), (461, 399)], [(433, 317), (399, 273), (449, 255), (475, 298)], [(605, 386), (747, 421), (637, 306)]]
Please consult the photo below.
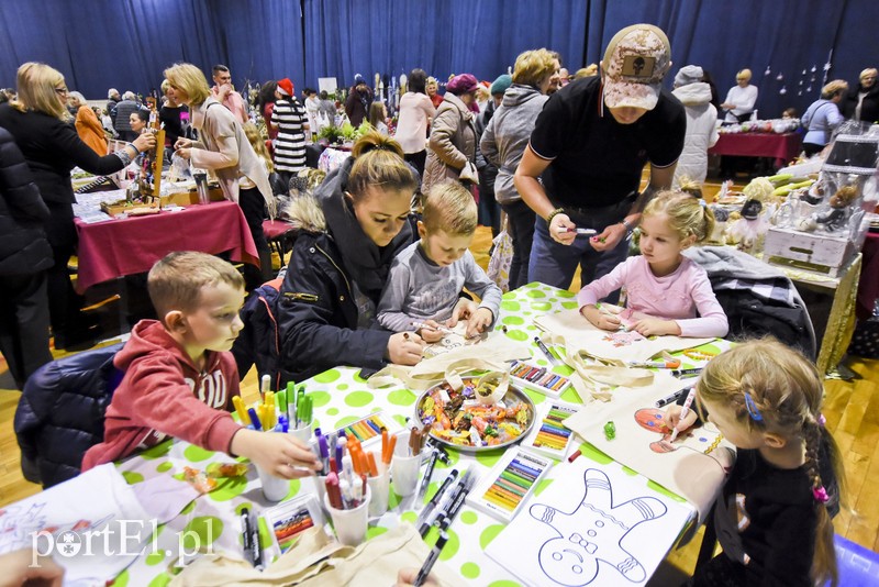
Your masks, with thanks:
[(52, 266), (43, 229), (47, 218), (24, 156), (0, 128), (0, 275), (34, 274)]

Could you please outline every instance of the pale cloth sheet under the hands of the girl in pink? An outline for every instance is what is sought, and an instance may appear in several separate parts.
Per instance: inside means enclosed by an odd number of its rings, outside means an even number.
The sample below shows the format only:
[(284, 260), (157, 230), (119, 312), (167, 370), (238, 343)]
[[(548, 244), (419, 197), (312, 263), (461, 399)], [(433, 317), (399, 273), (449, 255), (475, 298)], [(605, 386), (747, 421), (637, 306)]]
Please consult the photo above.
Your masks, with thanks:
[(534, 318), (538, 328), (565, 339), (568, 353), (582, 351), (591, 356), (623, 363), (644, 362), (663, 351), (682, 351), (714, 339), (683, 339), (680, 336), (650, 336), (637, 332), (611, 332), (593, 326), (577, 310)]

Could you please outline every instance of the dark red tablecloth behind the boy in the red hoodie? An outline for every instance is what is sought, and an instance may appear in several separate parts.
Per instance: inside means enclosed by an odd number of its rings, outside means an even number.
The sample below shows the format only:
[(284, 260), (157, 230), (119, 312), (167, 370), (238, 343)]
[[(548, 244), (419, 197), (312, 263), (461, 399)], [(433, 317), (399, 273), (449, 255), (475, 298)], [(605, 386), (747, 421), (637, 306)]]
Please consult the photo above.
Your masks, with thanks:
[(244, 213), (229, 201), (94, 224), (76, 219), (76, 230), (80, 294), (101, 281), (148, 272), (171, 251), (229, 252), (234, 261), (259, 265)]

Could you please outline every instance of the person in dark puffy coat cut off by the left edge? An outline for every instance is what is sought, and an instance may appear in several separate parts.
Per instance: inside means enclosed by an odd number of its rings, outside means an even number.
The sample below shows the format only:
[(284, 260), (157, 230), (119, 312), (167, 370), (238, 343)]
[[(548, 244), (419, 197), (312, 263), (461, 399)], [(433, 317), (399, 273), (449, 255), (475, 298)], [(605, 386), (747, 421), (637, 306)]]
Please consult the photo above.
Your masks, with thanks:
[(52, 248), (43, 230), (47, 218), (21, 151), (0, 128), (0, 352), (19, 389), (52, 361), (46, 297)]

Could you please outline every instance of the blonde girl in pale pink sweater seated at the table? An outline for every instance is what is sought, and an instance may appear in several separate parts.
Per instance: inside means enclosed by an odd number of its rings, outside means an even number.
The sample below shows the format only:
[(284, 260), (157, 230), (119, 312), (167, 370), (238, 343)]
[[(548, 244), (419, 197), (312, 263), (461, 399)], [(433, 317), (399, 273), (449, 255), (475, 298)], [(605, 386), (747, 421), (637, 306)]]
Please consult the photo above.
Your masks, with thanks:
[[(714, 214), (704, 200), (678, 191), (659, 193), (642, 217), (641, 255), (580, 290), (580, 313), (602, 330), (625, 325), (644, 336), (726, 335), (726, 314), (705, 270), (681, 255), (685, 248), (704, 241), (713, 226)], [(625, 310), (613, 313), (598, 304), (623, 286)]]

